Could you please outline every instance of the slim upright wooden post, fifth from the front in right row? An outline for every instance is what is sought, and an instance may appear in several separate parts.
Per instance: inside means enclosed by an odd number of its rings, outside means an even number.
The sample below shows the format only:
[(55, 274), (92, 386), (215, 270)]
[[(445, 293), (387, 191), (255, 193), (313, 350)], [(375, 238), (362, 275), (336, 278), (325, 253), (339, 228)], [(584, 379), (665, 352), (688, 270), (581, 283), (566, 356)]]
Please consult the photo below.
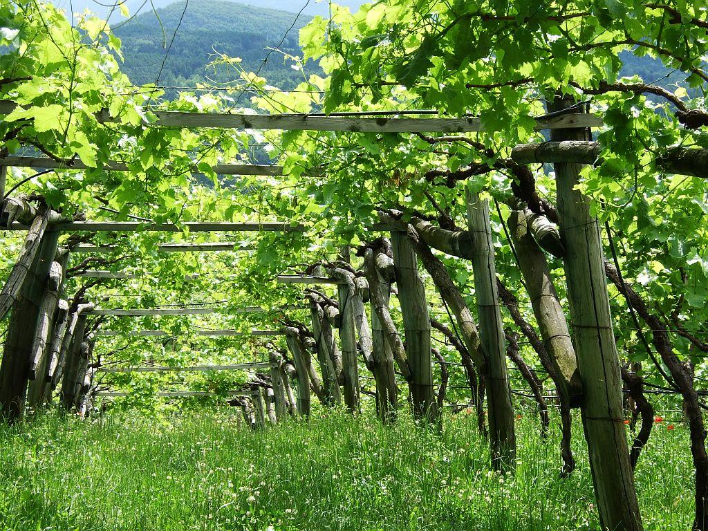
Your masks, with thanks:
[(338, 285), (339, 339), (342, 344), (342, 375), (344, 378), (344, 403), (353, 413), (359, 411), (359, 365), (357, 362), (356, 332), (354, 324), (353, 288)]

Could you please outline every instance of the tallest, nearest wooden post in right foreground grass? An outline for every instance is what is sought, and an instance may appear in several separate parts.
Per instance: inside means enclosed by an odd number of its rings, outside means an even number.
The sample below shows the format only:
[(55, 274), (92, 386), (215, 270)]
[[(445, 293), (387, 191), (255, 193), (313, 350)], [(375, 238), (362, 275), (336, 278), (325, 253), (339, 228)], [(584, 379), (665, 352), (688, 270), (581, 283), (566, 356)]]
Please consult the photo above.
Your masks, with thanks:
[[(574, 105), (556, 99), (551, 113)], [(552, 140), (586, 140), (585, 130), (552, 132)], [(566, 248), (564, 268), (568, 284), (571, 324), (578, 369), (583, 384), (581, 407), (593, 472), (600, 527), (641, 531), (632, 464), (622, 411), (622, 377), (610, 300), (605, 284), (603, 246), (598, 219), (590, 213), (590, 199), (576, 189), (582, 164), (554, 164), (558, 217)]]

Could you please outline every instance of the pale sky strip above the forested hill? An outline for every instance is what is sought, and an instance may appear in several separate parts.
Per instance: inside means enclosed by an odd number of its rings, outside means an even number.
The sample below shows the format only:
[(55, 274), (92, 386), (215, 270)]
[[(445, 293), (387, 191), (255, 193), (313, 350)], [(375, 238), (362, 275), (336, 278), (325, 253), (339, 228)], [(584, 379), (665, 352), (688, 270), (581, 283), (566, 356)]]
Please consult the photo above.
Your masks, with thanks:
[[(91, 9), (98, 13), (100, 16), (105, 16), (110, 8), (105, 7), (105, 4), (110, 4), (110, 0), (52, 0), (55, 6), (60, 8), (65, 8), (70, 11), (71, 8), (74, 12), (84, 11), (85, 8)], [(115, 1), (115, 0), (114, 0)], [(173, 2), (178, 1), (180, 4), (184, 0), (152, 0), (155, 7), (160, 8)], [(208, 2), (210, 0), (190, 0), (194, 2)], [(365, 4), (364, 0), (334, 0), (336, 4), (343, 6), (348, 6), (352, 11), (355, 11), (359, 6)], [(130, 14), (134, 14), (135, 11), (144, 4), (142, 11), (147, 11), (150, 8), (150, 2), (145, 0), (125, 0), (125, 4), (130, 10)], [(271, 9), (281, 9), (282, 11), (291, 11), (292, 13), (298, 13), (301, 9), (303, 13), (309, 15), (322, 15), (327, 16), (329, 13), (328, 0), (239, 0), (240, 4), (250, 4), (251, 6), (265, 7)], [(101, 4), (104, 4), (103, 6)], [(304, 9), (303, 9), (304, 7)], [(141, 12), (142, 12), (141, 11)], [(111, 17), (111, 21), (120, 21), (122, 16), (120, 13), (115, 13)]]

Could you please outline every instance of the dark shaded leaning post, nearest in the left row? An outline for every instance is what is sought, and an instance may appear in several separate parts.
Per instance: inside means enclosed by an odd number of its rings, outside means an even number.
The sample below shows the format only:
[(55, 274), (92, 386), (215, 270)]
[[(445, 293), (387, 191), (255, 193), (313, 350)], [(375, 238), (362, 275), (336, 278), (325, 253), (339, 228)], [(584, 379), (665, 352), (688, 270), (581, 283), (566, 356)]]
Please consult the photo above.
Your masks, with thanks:
[(22, 416), (30, 367), (35, 326), (40, 312), (55, 253), (59, 232), (45, 231), (29, 265), (18, 295), (12, 304), (2, 363), (0, 365), (0, 418), (16, 421)]

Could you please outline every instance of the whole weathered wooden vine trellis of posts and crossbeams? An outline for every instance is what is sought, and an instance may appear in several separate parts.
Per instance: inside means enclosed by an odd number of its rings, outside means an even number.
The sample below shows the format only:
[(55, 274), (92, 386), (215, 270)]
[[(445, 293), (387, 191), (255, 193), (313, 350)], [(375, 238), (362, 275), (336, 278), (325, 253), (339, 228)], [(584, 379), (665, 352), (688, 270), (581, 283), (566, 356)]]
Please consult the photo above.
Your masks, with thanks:
[[(15, 108), (11, 102), (0, 102), (0, 113)], [(600, 523), (607, 528), (639, 530), (641, 523), (636, 506), (636, 493), (629, 463), (629, 452), (622, 426), (622, 385), (614, 337), (610, 320), (605, 264), (603, 263), (597, 220), (590, 215), (588, 199), (575, 185), (581, 164), (593, 164), (600, 156), (598, 144), (589, 142), (586, 130), (602, 125), (600, 118), (582, 113), (576, 106), (559, 100), (552, 104), (549, 115), (535, 118), (537, 130), (551, 130), (552, 142), (533, 146), (515, 147), (512, 159), (518, 164), (551, 162), (555, 165), (559, 203), (560, 233), (554, 233), (553, 224), (542, 217), (520, 218), (525, 205), (516, 205), (518, 227), (526, 227), (533, 240), (540, 243), (543, 235), (556, 244), (552, 246), (564, 258), (569, 279), (571, 323), (578, 341), (576, 349), (567, 341), (557, 348), (549, 348), (549, 365), (559, 372), (559, 396), (568, 407), (580, 406), (590, 449), (590, 466), (598, 499)], [(219, 127), (239, 129), (319, 130), (342, 132), (478, 132), (484, 130), (481, 120), (465, 118), (365, 118), (360, 116), (324, 115), (242, 115), (175, 113), (154, 110), (156, 121), (152, 127)], [(115, 121), (107, 111), (97, 113), (101, 122)], [(707, 177), (705, 164), (707, 151), (702, 149), (672, 148), (656, 160), (664, 171)], [(43, 164), (43, 166), (42, 166)], [(49, 161), (30, 157), (6, 157), (0, 166), (53, 168), (57, 170), (86, 169), (74, 161)], [(232, 175), (279, 176), (279, 166), (217, 165), (218, 173)], [(105, 171), (127, 171), (125, 162), (105, 164)], [(446, 304), (455, 307), (456, 295), (452, 282), (444, 276), (435, 263), (430, 248), (472, 260), (481, 332), (478, 333), (472, 315), (457, 305), (455, 318), (464, 330), (470, 354), (476, 356), (478, 370), (489, 379), (489, 421), (494, 464), (511, 469), (514, 464), (515, 442), (510, 386), (506, 374), (504, 332), (501, 329), (499, 293), (494, 274), (494, 256), (489, 228), (489, 208), (479, 198), (470, 196), (469, 227), (467, 230), (450, 231), (435, 227), (421, 219), (401, 222), (389, 217), (382, 219), (378, 230), (390, 232), (393, 246), (381, 244), (365, 251), (365, 271), (353, 270), (347, 263), (328, 268), (326, 275), (282, 275), (281, 284), (336, 285), (337, 300), (310, 293), (312, 330), (308, 336), (293, 326), (283, 326), (278, 333), (285, 336), (292, 363), (286, 362), (282, 353), (270, 349), (268, 367), (270, 384), (253, 382), (251, 391), (239, 394), (233, 405), (241, 406), (244, 417), (252, 426), (265, 426), (265, 415), (280, 421), (287, 415), (306, 416), (309, 413), (310, 391), (323, 404), (336, 404), (343, 398), (350, 411), (360, 408), (358, 375), (358, 346), (365, 365), (372, 371), (377, 389), (379, 416), (391, 421), (398, 407), (395, 384), (395, 367), (399, 368), (412, 396), (413, 411), (421, 418), (435, 422), (438, 411), (433, 394), (432, 348), (430, 346), (430, 319), (426, 294), (418, 270), (420, 260), (438, 289), (450, 290), (443, 294)], [(0, 315), (12, 307), (12, 321), (6, 338), (0, 367), (0, 404), (4, 415), (18, 418), (23, 410), (28, 381), (34, 379), (30, 395), (47, 396), (47, 387), (54, 389), (62, 381), (62, 401), (65, 406), (80, 407), (88, 392), (86, 377), (91, 375), (87, 360), (91, 341), (86, 342), (84, 324), (87, 315), (144, 316), (186, 315), (219, 312), (215, 308), (160, 308), (160, 309), (101, 309), (91, 304), (81, 304), (62, 312), (58, 301), (61, 280), (57, 270), (64, 270), (65, 257), (57, 253), (60, 232), (304, 232), (299, 224), (286, 222), (187, 222), (155, 224), (152, 222), (76, 222), (59, 220), (50, 211), (37, 212), (28, 205), (3, 205), (6, 228), (28, 231), (21, 256), (22, 267), (13, 270), (11, 281), (3, 290)], [(527, 220), (527, 221), (526, 221)], [(522, 227), (522, 228), (523, 228)], [(556, 234), (556, 236), (554, 236)], [(558, 234), (563, 234), (559, 238)], [(515, 236), (523, 238), (523, 234)], [(531, 243), (532, 240), (527, 240)], [(230, 246), (230, 247), (229, 247)], [(546, 248), (547, 246), (544, 246)], [(234, 244), (161, 244), (159, 251), (246, 251), (249, 248)], [(427, 249), (427, 251), (426, 251)], [(536, 248), (534, 248), (536, 249)], [(112, 246), (81, 246), (72, 252), (107, 253)], [(393, 252), (392, 252), (393, 251)], [(427, 253), (426, 253), (427, 252)], [(540, 252), (540, 251), (539, 251)], [(428, 254), (430, 253), (430, 254)], [(433, 258), (430, 258), (430, 257)], [(540, 257), (540, 258), (539, 258)], [(537, 260), (544, 260), (541, 253)], [(62, 262), (63, 261), (63, 262)], [(538, 264), (537, 264), (538, 265)], [(24, 273), (23, 270), (24, 269)], [(541, 268), (543, 269), (543, 268)], [(525, 274), (532, 274), (529, 268)], [(52, 271), (54, 273), (52, 273)], [(433, 273), (435, 272), (435, 273)], [(93, 272), (99, 273), (108, 272)], [(118, 273), (112, 273), (118, 275)], [(111, 278), (131, 278), (126, 276)], [(440, 277), (439, 275), (442, 275)], [(62, 275), (58, 275), (61, 278)], [(388, 309), (391, 282), (396, 281), (403, 314), (406, 345), (396, 331)], [(442, 294), (442, 291), (441, 291)], [(554, 304), (554, 292), (541, 293), (539, 297)], [(557, 302), (557, 301), (556, 301)], [(44, 304), (46, 303), (46, 304)], [(370, 304), (371, 328), (367, 325), (366, 306)], [(64, 307), (66, 304), (64, 303)], [(593, 312), (586, 312), (591, 308)], [(287, 307), (287, 309), (301, 309)], [(553, 338), (569, 337), (561, 326), (562, 313), (556, 312), (556, 321), (549, 324), (541, 316), (542, 309), (535, 307), (542, 333), (554, 330)], [(553, 307), (557, 310), (556, 307)], [(233, 309), (234, 313), (263, 312), (261, 307)], [(564, 319), (563, 319), (564, 320)], [(37, 326), (26, 326), (36, 323)], [(52, 324), (49, 326), (48, 324)], [(545, 326), (548, 325), (548, 326)], [(553, 326), (552, 326), (553, 325)], [(49, 328), (53, 333), (49, 332)], [(65, 330), (65, 331), (64, 331)], [(335, 341), (333, 330), (338, 330), (341, 347)], [(149, 333), (148, 333), (149, 332)], [(159, 331), (144, 331), (145, 336), (159, 335)], [(253, 333), (253, 332), (252, 332)], [(137, 335), (142, 335), (139, 332)], [(209, 335), (209, 334), (203, 334)], [(215, 334), (217, 335), (217, 334)], [(235, 335), (235, 334), (234, 334)], [(258, 335), (258, 334), (256, 334)], [(265, 335), (265, 334), (263, 334)], [(551, 338), (544, 337), (547, 341)], [(550, 344), (550, 343), (549, 343)], [(316, 346), (316, 348), (314, 348)], [(341, 348), (341, 350), (339, 350)], [(43, 351), (43, 353), (42, 353)], [(319, 357), (323, 380), (316, 370), (312, 352)], [(32, 356), (33, 369), (27, 360)], [(574, 365), (576, 364), (576, 365)], [(42, 367), (42, 368), (40, 368)], [(230, 366), (235, 367), (235, 366)], [(260, 364), (258, 367), (265, 367)], [(130, 367), (122, 369), (127, 372)], [(576, 370), (577, 369), (577, 370)], [(103, 369), (108, 371), (107, 369)], [(133, 367), (132, 370), (190, 370), (189, 367)], [(214, 367), (191, 367), (191, 370), (221, 370)], [(229, 370), (224, 368), (223, 370)], [(114, 372), (121, 371), (116, 368)], [(63, 373), (63, 374), (62, 374)], [(341, 375), (341, 377), (340, 377)], [(63, 376), (63, 378), (62, 378)], [(340, 396), (338, 382), (343, 381)], [(290, 382), (297, 383), (297, 399)], [(89, 387), (91, 382), (89, 381)], [(178, 393), (178, 394), (176, 394)], [(123, 396), (119, 392), (98, 393), (98, 396)], [(206, 392), (162, 392), (159, 396), (207, 396)], [(272, 413), (272, 415), (271, 415)]]

